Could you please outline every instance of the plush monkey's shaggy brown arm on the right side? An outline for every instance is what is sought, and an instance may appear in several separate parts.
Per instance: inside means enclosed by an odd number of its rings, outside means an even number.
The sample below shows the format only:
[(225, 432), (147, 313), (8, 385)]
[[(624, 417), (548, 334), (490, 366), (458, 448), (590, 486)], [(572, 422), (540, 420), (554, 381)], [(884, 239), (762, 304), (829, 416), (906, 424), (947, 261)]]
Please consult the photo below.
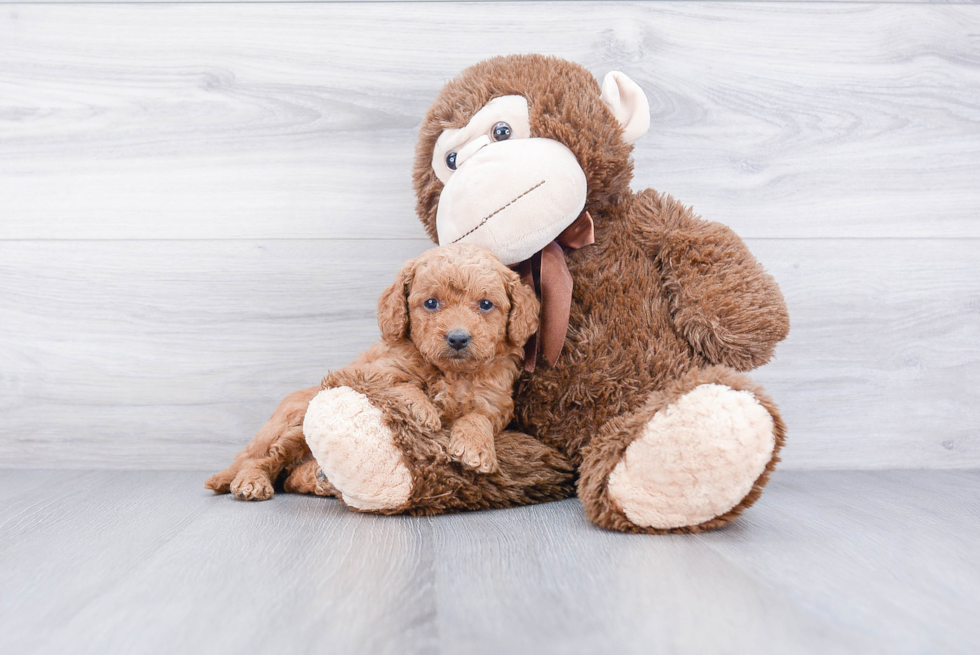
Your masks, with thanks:
[(715, 364), (761, 366), (789, 333), (779, 286), (728, 227), (648, 190), (633, 206), (638, 237), (663, 276), (674, 326)]

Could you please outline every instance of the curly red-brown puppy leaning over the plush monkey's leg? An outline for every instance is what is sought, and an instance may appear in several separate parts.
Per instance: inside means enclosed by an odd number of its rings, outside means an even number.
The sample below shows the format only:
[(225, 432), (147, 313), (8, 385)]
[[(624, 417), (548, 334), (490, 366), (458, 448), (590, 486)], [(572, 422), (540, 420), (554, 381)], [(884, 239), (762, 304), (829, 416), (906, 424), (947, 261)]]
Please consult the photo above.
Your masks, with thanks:
[(319, 386), (287, 396), (205, 486), (266, 500), (284, 473), (286, 491), (337, 495), (306, 445), (303, 418), (321, 389), (351, 384), (400, 407), (416, 429), (449, 428), (449, 454), (463, 467), (496, 471), (494, 437), (513, 417), (514, 381), (538, 308), (534, 291), (488, 250), (454, 244), (423, 253), (378, 301), (381, 341)]

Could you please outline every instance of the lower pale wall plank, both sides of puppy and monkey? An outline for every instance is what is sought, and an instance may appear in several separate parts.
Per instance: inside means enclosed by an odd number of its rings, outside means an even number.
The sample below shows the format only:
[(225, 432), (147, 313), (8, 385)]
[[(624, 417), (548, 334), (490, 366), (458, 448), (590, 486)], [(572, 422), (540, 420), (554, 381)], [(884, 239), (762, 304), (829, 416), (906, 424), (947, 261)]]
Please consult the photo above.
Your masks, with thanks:
[[(0, 461), (223, 467), (377, 339), (417, 241), (0, 242)], [(980, 241), (750, 240), (787, 468), (980, 466)]]

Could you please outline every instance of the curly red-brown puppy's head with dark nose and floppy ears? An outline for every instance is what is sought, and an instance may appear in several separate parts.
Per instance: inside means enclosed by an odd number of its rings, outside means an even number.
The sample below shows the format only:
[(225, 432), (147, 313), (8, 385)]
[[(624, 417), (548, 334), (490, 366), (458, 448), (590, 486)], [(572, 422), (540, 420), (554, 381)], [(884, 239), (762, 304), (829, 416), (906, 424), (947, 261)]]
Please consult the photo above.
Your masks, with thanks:
[(537, 298), (520, 277), (468, 244), (433, 248), (409, 262), (378, 304), (386, 340), (407, 336), (446, 371), (473, 370), (523, 346), (537, 317)]

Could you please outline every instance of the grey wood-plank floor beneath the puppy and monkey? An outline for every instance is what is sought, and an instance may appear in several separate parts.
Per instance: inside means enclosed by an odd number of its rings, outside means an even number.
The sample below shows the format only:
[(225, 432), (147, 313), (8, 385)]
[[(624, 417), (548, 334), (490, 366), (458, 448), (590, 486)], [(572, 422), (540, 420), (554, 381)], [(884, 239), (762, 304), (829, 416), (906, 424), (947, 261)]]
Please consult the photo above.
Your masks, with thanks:
[(3, 653), (967, 653), (980, 471), (781, 472), (728, 529), (435, 518), (203, 473), (0, 472)]

